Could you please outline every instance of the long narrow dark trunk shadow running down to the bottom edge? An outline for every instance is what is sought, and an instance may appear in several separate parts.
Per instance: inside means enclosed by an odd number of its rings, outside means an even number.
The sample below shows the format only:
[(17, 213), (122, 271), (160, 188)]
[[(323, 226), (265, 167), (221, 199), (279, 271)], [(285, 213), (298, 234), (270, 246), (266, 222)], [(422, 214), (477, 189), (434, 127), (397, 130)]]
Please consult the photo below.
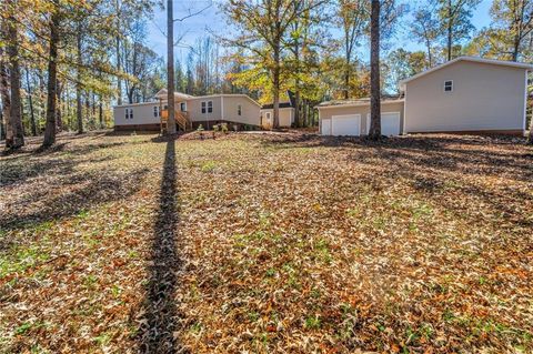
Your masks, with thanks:
[(178, 211), (174, 144), (174, 139), (167, 141), (159, 210), (148, 262), (145, 313), (139, 332), (142, 353), (175, 353), (180, 350), (174, 338), (179, 321), (174, 294), (177, 272), (181, 266), (175, 232)]

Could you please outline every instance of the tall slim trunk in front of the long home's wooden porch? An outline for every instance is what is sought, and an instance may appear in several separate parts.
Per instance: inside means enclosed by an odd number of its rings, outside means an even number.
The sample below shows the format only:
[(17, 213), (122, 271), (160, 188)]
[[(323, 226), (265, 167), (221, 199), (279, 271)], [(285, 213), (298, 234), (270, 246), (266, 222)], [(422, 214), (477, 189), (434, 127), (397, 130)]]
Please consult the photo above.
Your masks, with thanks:
[[(172, 0), (167, 0), (167, 100), (168, 121), (167, 133), (175, 134), (174, 117), (174, 14)], [(207, 109), (207, 108), (205, 108)]]

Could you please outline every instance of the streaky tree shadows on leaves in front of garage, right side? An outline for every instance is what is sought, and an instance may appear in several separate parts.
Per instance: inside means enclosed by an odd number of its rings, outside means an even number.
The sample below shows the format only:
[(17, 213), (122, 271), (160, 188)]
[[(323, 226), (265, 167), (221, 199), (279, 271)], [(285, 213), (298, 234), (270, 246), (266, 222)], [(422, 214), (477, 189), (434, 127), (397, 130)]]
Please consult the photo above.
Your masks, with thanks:
[(520, 138), (435, 134), (374, 142), (364, 138), (304, 134), (269, 139), (262, 143), (273, 149), (339, 148), (341, 163), (355, 163), (379, 173), (381, 179), (396, 182), (402, 179), (449, 210), (463, 212), (467, 204), (457, 203), (456, 198), (462, 195), (523, 227), (533, 226), (529, 215), (514, 204), (520, 200), (524, 205), (531, 205), (533, 199), (530, 194), (512, 184), (494, 183), (492, 188), (479, 183), (486, 178), (522, 184), (533, 179), (533, 150), (523, 145)]

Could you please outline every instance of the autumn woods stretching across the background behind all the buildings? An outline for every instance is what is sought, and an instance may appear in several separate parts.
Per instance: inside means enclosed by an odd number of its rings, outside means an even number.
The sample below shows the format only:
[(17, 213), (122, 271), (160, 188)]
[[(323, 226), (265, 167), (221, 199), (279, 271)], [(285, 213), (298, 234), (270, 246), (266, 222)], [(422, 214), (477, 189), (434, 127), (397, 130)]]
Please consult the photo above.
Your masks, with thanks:
[[(491, 24), (475, 29), (481, 0), (379, 1), (380, 91), (461, 54), (531, 62), (533, 0), (493, 0)], [(189, 94), (244, 92), (261, 102), (294, 92), (296, 123), (313, 123), (326, 99), (371, 91), (371, 0), (229, 0), (220, 6), (228, 36), (205, 33), (174, 47), (174, 85)], [(165, 87), (165, 58), (151, 49), (157, 0), (4, 0), (0, 24), (1, 135), (108, 127), (113, 104), (151, 100)], [(161, 33), (165, 36), (165, 33)], [(423, 50), (396, 48), (406, 36)], [(274, 124), (278, 122), (274, 112)]]

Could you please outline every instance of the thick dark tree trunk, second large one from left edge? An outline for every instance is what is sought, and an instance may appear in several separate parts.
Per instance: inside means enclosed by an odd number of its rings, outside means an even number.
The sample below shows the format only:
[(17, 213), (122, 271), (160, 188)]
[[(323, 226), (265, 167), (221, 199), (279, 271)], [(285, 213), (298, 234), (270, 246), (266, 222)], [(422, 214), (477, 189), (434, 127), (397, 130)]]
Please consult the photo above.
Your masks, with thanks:
[(56, 4), (50, 20), (50, 57), (48, 59), (48, 99), (47, 127), (42, 146), (51, 146), (56, 142), (56, 85), (58, 82), (58, 42), (59, 42), (59, 3)]

